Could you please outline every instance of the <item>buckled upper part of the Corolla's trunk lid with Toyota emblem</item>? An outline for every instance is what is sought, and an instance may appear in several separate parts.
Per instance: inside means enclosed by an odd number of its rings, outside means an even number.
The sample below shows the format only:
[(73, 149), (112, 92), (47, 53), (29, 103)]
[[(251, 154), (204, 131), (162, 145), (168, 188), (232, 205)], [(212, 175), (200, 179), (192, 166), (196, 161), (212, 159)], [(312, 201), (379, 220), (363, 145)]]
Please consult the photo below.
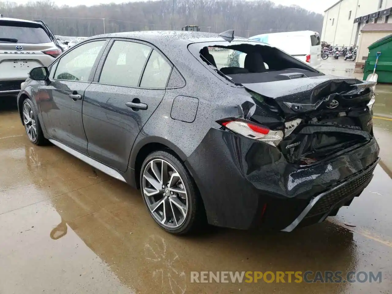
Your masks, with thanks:
[(289, 118), (323, 109), (366, 106), (371, 99), (371, 88), (376, 83), (325, 75), (242, 85), (262, 95), (266, 103), (278, 105), (284, 116)]

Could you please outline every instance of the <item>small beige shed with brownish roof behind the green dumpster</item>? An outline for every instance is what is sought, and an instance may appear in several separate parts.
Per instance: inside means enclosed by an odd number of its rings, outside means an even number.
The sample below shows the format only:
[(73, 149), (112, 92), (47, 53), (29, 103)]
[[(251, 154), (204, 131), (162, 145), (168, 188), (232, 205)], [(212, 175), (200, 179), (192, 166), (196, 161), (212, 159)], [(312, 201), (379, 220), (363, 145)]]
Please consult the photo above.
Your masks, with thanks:
[(361, 29), (359, 38), (356, 67), (363, 67), (368, 58), (368, 47), (377, 40), (392, 34), (392, 24), (366, 24)]

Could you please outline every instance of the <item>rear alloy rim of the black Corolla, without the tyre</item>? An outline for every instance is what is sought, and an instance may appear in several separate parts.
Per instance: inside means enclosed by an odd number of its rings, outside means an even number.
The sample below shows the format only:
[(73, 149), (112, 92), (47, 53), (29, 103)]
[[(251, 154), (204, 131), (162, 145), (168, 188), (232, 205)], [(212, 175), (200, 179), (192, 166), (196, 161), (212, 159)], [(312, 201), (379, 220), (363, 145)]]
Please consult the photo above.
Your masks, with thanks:
[(177, 170), (165, 160), (153, 159), (143, 171), (142, 185), (154, 219), (169, 229), (180, 227), (188, 215), (189, 199)]

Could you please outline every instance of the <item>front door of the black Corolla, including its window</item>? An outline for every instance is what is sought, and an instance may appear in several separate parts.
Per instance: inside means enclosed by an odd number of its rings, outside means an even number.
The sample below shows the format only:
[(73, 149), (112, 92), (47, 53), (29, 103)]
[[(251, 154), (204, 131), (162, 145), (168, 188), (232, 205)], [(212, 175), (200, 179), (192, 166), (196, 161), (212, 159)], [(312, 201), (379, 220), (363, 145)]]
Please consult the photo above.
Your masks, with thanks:
[(87, 138), (82, 122), (83, 96), (106, 42), (88, 42), (66, 53), (53, 69), (49, 85), (43, 87), (48, 99), (39, 103), (49, 136), (84, 153)]

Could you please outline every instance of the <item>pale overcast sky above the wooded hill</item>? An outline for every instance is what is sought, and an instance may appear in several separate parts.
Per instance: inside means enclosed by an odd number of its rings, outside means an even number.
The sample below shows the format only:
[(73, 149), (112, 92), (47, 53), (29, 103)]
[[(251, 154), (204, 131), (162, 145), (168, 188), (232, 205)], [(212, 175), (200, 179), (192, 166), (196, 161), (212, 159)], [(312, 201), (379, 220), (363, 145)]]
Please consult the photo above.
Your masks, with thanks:
[[(33, 0), (34, 1), (34, 0)], [(87, 6), (90, 5), (96, 5), (96, 4), (107, 4), (107, 3), (122, 3), (122, 2), (129, 2), (127, 0), (52, 0), (55, 2), (57, 5), (61, 6), (63, 4), (67, 4), (69, 6), (76, 6), (80, 4), (85, 4)], [(132, 0), (131, 2), (138, 1), (138, 0)], [(337, 2), (337, 0), (271, 0), (272, 2), (275, 2), (276, 4), (282, 4), (282, 5), (292, 5), (296, 4), (299, 5), (305, 9), (308, 9), (310, 11), (315, 11), (318, 13), (323, 14), (324, 10), (327, 9), (328, 7), (332, 6)], [(372, 1), (372, 0), (370, 0)], [(11, 0), (10, 2), (16, 2), (20, 4), (25, 4), (29, 2), (29, 0)]]

